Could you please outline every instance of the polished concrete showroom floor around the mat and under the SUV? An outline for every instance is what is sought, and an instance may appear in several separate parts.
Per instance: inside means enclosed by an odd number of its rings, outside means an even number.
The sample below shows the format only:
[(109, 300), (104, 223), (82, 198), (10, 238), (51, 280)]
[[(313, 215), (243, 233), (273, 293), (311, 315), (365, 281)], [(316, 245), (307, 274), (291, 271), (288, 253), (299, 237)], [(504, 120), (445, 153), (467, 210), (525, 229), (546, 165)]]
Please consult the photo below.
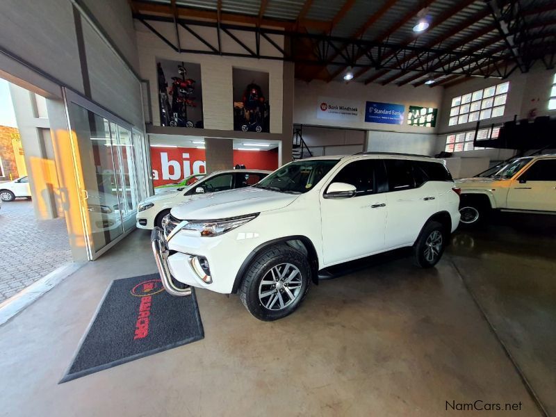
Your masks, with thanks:
[(135, 231), (0, 327), (0, 416), (443, 416), (475, 400), (540, 416), (467, 288), (556, 414), (554, 236), (491, 229), (457, 234), (432, 270), (400, 252), (322, 281), (277, 322), (197, 291), (204, 340), (58, 385), (110, 281), (155, 272)]

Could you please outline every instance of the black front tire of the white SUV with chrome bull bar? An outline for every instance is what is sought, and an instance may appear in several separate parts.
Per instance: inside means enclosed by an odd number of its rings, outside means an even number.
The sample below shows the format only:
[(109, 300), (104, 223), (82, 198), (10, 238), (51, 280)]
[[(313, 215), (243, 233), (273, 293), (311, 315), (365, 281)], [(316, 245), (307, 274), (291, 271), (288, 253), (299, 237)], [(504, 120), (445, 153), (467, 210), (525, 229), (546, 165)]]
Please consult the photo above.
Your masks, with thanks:
[[(297, 293), (295, 293), (295, 289), (292, 292), (290, 289), (284, 288), (286, 284), (288, 284), (286, 281), (287, 277), (275, 281), (277, 282), (275, 286), (261, 285), (263, 278), (267, 277), (265, 282), (272, 279), (271, 270), (273, 270), (273, 268), (278, 268), (279, 270), (280, 268), (286, 268), (287, 265), (293, 265), (294, 268), (290, 267), (291, 269), (289, 269), (289, 272), (285, 275), (291, 274), (291, 272), (294, 272), (295, 268), (297, 268), (298, 272), (295, 274), (295, 288), (298, 288)], [(297, 278), (298, 275), (300, 275), (299, 279)], [(310, 282), (311, 267), (306, 256), (288, 245), (275, 245), (263, 250), (249, 265), (243, 277), (243, 281), (240, 284), (239, 295), (247, 311), (255, 318), (263, 321), (278, 320), (279, 318), (284, 318), (293, 313), (293, 311), (300, 306), (307, 291), (309, 291)], [(299, 284), (298, 287), (297, 284)], [(277, 289), (278, 286), (281, 286), (281, 289)], [(263, 297), (262, 299), (267, 306), (272, 304), (270, 308), (263, 305), (263, 302), (261, 302), (261, 298), (259, 298), (260, 288), (263, 293), (274, 291), (275, 294), (268, 295), (268, 298)], [(291, 288), (293, 288), (293, 286)], [(288, 293), (293, 293), (295, 297), (291, 298)], [(272, 302), (272, 300), (274, 300), (274, 302)], [(279, 308), (279, 305), (275, 306), (277, 302), (284, 303), (284, 307)]]

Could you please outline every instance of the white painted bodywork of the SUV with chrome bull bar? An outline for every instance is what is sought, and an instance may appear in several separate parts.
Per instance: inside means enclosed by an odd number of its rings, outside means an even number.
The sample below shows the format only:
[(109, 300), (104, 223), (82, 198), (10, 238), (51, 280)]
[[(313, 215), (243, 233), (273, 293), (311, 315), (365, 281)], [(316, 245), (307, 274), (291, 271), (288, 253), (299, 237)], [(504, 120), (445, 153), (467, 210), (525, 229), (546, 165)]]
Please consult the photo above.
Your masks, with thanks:
[[(336, 158), (340, 157), (311, 159)], [(326, 199), (323, 194), (336, 173), (360, 158), (366, 156), (343, 157), (314, 188), (299, 195), (241, 188), (205, 195), (175, 206), (171, 215), (183, 224), (191, 220), (259, 215), (220, 236), (202, 237), (198, 231), (186, 229), (172, 234), (167, 240), (168, 249), (176, 251), (167, 258), (172, 276), (183, 284), (231, 293), (245, 260), (258, 247), (274, 240), (292, 236), (308, 239), (318, 256), (320, 270), (395, 247), (411, 246), (430, 216), (439, 211), (448, 211), (452, 221), (450, 231), (455, 231), (459, 223), (459, 197), (452, 190), (452, 181), (428, 181), (420, 188), (393, 193)], [(423, 200), (424, 197), (434, 199)], [(370, 207), (383, 203), (386, 206), (382, 208)], [(361, 216), (367, 213), (368, 221), (362, 222), (366, 217)], [(213, 279), (211, 284), (206, 284), (193, 271), (189, 261), (195, 255), (207, 259)]]

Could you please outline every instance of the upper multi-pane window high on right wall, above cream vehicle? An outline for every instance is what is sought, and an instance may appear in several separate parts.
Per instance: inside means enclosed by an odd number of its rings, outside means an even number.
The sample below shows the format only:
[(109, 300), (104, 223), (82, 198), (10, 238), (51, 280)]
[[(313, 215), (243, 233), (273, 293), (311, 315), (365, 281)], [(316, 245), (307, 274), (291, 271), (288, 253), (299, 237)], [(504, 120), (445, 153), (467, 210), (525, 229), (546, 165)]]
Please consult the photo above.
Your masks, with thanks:
[[(505, 91), (503, 92), (499, 92), (501, 85), (507, 85), (507, 88), (505, 88)], [(488, 95), (490, 94), (489, 90), (492, 89), (494, 89), (493, 94)], [(458, 124), (477, 122), (478, 120), (489, 120), (493, 117), (502, 117), (506, 111), (508, 94), (509, 81), (505, 81), (500, 84), (482, 88), (481, 90), (476, 90), (473, 92), (468, 92), (464, 95), (452, 97), (452, 101), (450, 102), (450, 116), (448, 117), (448, 126), (457, 126)], [(504, 102), (495, 106), (494, 103), (496, 102), (496, 100), (502, 96), (505, 96)], [(466, 97), (465, 100), (464, 97)], [(472, 110), (473, 104), (478, 104), (478, 108)], [(464, 106), (467, 106), (467, 111), (461, 112), (461, 108)], [(493, 111), (499, 108), (502, 109), (502, 113), (500, 115), (493, 116)], [(471, 117), (472, 114), (473, 118)], [(475, 115), (477, 116), (476, 118)], [(487, 116), (482, 117), (482, 115)]]

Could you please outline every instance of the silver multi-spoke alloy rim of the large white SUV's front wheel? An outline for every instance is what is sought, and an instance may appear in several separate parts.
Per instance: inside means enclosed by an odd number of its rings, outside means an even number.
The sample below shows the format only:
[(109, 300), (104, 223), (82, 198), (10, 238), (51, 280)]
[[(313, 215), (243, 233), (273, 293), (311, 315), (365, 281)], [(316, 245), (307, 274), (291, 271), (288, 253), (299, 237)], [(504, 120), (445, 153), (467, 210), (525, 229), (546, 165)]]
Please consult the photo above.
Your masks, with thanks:
[(259, 302), (268, 310), (281, 310), (300, 296), (302, 276), (292, 263), (273, 266), (259, 284)]

